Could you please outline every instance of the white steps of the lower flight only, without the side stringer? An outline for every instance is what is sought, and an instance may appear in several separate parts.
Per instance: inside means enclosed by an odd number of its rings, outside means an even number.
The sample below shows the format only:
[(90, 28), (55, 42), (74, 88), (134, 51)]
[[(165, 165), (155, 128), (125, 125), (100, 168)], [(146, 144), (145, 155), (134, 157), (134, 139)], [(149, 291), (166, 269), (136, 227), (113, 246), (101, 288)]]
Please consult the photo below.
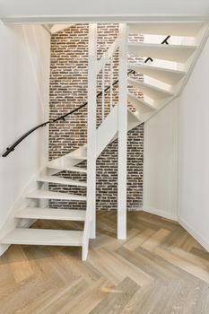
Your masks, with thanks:
[[(85, 157), (83, 157), (83, 160)], [(82, 159), (79, 159), (82, 161)], [(48, 169), (45, 172), (54, 170), (55, 162), (48, 163)], [(69, 160), (70, 164), (70, 160)], [(86, 173), (86, 169), (82, 169), (74, 166), (65, 166), (63, 164), (56, 164), (57, 173), (62, 170), (83, 172)], [(56, 175), (43, 175), (37, 179), (37, 182), (41, 183), (57, 183), (67, 186), (86, 187), (87, 183), (83, 181), (76, 181), (73, 179), (60, 178)], [(38, 204), (41, 200), (68, 200), (68, 201), (80, 201), (86, 202), (86, 196), (71, 195), (67, 193), (53, 192), (48, 189), (37, 189), (30, 192), (25, 196), (29, 201), (35, 200)], [(14, 218), (17, 220), (50, 220), (50, 221), (67, 221), (67, 222), (85, 222), (85, 210), (65, 210), (57, 208), (48, 208), (41, 206), (27, 206), (19, 209), (14, 214)], [(16, 228), (13, 231), (7, 233), (0, 241), (1, 244), (22, 244), (22, 245), (47, 245), (47, 246), (83, 246), (83, 231), (68, 231), (68, 230), (45, 230), (45, 229), (33, 229), (31, 228)]]

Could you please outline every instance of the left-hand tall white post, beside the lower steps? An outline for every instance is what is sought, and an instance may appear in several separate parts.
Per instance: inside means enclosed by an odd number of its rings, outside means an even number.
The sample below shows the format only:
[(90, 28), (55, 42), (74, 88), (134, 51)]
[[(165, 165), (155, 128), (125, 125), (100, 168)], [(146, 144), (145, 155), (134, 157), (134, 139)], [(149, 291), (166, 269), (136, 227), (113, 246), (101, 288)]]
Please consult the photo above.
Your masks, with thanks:
[(97, 24), (89, 25), (87, 142), (87, 214), (91, 213), (90, 238), (96, 236), (96, 118), (97, 118)]

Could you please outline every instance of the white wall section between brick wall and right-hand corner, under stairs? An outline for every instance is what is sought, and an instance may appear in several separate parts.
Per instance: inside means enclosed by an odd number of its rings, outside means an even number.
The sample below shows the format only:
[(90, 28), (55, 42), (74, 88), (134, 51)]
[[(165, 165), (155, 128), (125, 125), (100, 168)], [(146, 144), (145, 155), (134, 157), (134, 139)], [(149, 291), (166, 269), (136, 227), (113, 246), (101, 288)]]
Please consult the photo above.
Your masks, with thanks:
[(179, 100), (144, 125), (144, 211), (177, 220)]

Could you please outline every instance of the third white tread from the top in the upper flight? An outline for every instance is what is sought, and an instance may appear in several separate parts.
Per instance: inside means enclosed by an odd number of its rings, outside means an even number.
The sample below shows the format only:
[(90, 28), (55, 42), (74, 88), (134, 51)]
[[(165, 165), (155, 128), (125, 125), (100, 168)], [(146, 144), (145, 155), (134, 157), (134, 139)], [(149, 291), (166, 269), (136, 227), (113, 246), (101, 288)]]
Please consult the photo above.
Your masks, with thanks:
[(135, 63), (129, 63), (128, 68), (131, 70), (135, 70), (140, 74), (149, 75), (152, 78), (167, 84), (178, 83), (179, 80), (186, 75), (186, 72), (184, 71), (167, 69), (152, 65), (140, 65)]

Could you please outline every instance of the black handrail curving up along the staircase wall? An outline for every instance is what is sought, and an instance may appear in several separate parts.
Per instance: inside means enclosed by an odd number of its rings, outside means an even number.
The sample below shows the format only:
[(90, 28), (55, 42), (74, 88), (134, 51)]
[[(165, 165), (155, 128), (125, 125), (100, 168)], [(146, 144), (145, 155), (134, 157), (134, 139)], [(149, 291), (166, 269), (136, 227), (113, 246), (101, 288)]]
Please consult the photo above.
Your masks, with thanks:
[[(163, 44), (169, 45), (168, 39), (170, 39), (170, 36), (167, 36), (166, 39), (164, 39), (164, 40), (161, 42), (161, 44), (162, 44), (162, 45), (163, 45)], [(144, 63), (147, 63), (149, 60), (153, 61), (152, 57), (148, 57), (148, 58), (144, 61)], [(128, 74), (128, 75), (129, 75), (129, 74), (135, 74), (135, 70), (130, 70), (130, 71), (128, 71), (127, 74)], [(109, 89), (111, 88), (111, 86), (112, 86), (112, 87), (115, 86), (116, 84), (118, 84), (118, 82), (119, 82), (119, 81), (116, 80), (114, 83), (112, 83), (112, 85), (109, 85), (108, 87), (106, 87), (105, 90), (104, 90), (104, 93), (108, 92)], [(102, 95), (102, 93), (103, 93), (103, 92), (101, 91), (101, 92), (99, 92), (99, 93), (97, 94), (97, 99)], [(31, 133), (33, 133), (34, 131), (38, 130), (40, 127), (48, 126), (49, 124), (56, 123), (56, 122), (59, 121), (59, 120), (64, 120), (64, 121), (65, 121), (65, 118), (66, 118), (66, 117), (72, 115), (74, 112), (76, 112), (76, 111), (78, 111), (78, 110), (80, 110), (80, 109), (83, 109), (83, 107), (87, 106), (87, 104), (88, 104), (88, 101), (85, 101), (85, 102), (83, 103), (83, 105), (81, 105), (80, 107), (78, 107), (78, 108), (76, 108), (76, 109), (74, 109), (74, 110), (72, 110), (72, 111), (70, 111), (70, 112), (68, 112), (68, 113), (65, 113), (65, 115), (62, 115), (62, 116), (60, 116), (60, 117), (58, 117), (58, 118), (55, 118), (55, 119), (53, 119), (53, 120), (48, 120), (48, 121), (46, 121), (46, 122), (44, 122), (44, 123), (41, 123), (39, 126), (32, 127), (32, 128), (30, 129), (30, 131), (28, 131), (28, 132), (26, 132), (25, 134), (23, 134), (16, 142), (14, 142), (11, 146), (7, 147), (6, 150), (5, 150), (5, 152), (2, 154), (2, 157), (7, 157), (10, 153), (12, 153), (12, 152), (14, 151), (14, 149), (16, 148), (17, 145), (19, 145), (26, 137), (28, 137), (28, 136), (29, 136)]]

